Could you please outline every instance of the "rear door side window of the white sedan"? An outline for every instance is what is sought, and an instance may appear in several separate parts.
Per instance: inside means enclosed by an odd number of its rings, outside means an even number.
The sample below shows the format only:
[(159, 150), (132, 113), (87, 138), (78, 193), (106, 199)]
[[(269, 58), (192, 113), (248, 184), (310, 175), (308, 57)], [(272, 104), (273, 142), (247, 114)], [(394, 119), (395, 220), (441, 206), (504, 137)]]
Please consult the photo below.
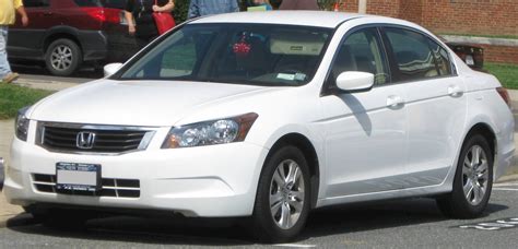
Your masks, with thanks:
[(398, 63), (398, 81), (414, 81), (440, 75), (428, 38), (416, 32), (401, 28), (388, 27), (385, 32)]

